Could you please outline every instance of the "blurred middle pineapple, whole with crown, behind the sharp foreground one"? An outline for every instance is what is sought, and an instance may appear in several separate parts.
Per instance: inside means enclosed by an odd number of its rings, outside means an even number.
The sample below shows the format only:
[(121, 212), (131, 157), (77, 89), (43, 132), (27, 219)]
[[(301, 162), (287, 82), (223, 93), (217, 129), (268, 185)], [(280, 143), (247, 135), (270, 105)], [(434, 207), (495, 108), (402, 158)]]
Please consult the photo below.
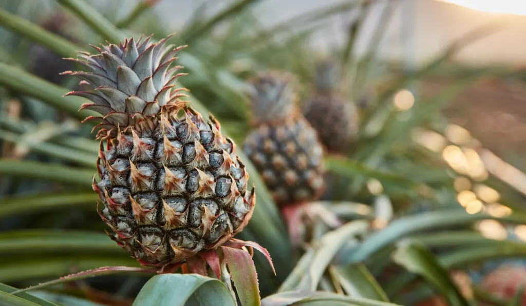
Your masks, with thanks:
[(323, 192), (323, 149), (316, 131), (298, 112), (292, 76), (259, 73), (250, 81), (256, 128), (244, 151), (278, 205), (315, 201)]

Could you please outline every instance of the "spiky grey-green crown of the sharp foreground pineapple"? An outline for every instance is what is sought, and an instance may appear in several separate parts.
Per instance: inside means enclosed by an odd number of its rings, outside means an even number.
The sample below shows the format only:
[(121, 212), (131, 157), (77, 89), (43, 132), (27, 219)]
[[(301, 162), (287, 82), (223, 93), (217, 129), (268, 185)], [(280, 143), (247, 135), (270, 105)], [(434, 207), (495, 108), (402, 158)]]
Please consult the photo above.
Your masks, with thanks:
[[(170, 105), (184, 104), (180, 97), (186, 95), (175, 88), (178, 77), (186, 73), (177, 73), (183, 68), (171, 64), (177, 59), (177, 52), (186, 46), (174, 48), (166, 45), (168, 37), (158, 43), (151, 43), (151, 36), (137, 41), (133, 37), (119, 45), (107, 44), (92, 46), (98, 54), (79, 52), (80, 58), (66, 58), (87, 67), (90, 72), (66, 71), (63, 74), (82, 79), (80, 85), (93, 90), (72, 91), (66, 96), (81, 96), (91, 100), (80, 109), (93, 110), (102, 116), (90, 116), (85, 121), (99, 121), (94, 130), (99, 129), (97, 137), (104, 139), (115, 136), (120, 129), (135, 125), (140, 118), (156, 117), (162, 109)], [(141, 41), (143, 40), (143, 41)]]

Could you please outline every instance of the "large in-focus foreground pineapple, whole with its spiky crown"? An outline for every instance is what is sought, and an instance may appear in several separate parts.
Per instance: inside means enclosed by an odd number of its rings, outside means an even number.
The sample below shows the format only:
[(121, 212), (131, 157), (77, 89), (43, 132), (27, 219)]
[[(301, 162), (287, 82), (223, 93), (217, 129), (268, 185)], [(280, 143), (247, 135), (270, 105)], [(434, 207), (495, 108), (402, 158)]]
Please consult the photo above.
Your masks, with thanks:
[[(165, 267), (215, 249), (241, 231), (255, 205), (254, 188), (224, 138), (208, 120), (179, 98), (170, 69), (183, 47), (126, 39), (120, 45), (82, 52), (70, 59), (91, 72), (66, 72), (94, 91), (82, 109), (101, 117), (99, 180), (93, 188), (104, 203), (99, 214), (120, 246), (144, 266)], [(86, 121), (85, 120), (85, 121)]]

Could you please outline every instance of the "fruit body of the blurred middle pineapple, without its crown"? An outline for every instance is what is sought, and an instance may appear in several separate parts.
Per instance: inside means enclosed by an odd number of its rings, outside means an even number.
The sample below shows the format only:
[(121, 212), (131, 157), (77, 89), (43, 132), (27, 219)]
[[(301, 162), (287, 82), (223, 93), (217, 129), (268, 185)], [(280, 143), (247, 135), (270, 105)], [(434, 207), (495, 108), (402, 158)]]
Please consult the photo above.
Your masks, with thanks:
[(278, 205), (310, 201), (323, 191), (323, 149), (304, 118), (259, 125), (248, 134), (245, 153)]

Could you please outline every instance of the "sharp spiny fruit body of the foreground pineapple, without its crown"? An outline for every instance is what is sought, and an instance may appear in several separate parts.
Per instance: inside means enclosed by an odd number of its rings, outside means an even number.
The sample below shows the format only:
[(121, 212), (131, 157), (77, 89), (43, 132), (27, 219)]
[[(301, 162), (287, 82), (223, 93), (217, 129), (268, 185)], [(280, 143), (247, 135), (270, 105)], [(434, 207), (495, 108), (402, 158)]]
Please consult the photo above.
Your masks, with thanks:
[[(169, 118), (167, 118), (169, 117)], [(214, 248), (248, 221), (254, 194), (234, 144), (213, 118), (191, 109), (129, 128), (100, 151), (100, 215), (113, 239), (144, 265), (161, 266)]]

